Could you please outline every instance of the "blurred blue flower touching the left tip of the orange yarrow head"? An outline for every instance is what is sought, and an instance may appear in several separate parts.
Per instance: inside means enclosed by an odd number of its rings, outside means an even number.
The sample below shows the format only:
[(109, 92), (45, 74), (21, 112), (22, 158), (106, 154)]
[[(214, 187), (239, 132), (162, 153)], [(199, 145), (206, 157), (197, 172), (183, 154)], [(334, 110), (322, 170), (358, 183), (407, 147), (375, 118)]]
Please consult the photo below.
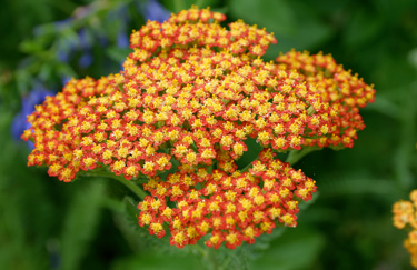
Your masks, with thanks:
[[(11, 134), (16, 140), (20, 140), (20, 136), (23, 131), (31, 127), (27, 121), (27, 116), (32, 113), (34, 111), (34, 106), (42, 103), (47, 96), (54, 96), (54, 93), (41, 86), (37, 86), (28, 96), (22, 98), (21, 110), (11, 123)], [(31, 141), (28, 141), (28, 147), (30, 149), (34, 148)]]

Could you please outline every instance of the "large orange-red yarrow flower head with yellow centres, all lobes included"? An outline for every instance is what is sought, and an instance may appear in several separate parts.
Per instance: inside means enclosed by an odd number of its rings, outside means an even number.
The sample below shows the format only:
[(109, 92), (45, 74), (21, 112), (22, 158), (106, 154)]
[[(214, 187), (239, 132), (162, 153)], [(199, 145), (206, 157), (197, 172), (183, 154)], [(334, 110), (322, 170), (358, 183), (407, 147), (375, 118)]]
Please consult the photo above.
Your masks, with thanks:
[[(208, 247), (234, 249), (295, 227), (316, 184), (277, 152), (353, 147), (374, 89), (330, 56), (265, 62), (274, 36), (240, 20), (227, 29), (225, 19), (191, 8), (148, 21), (130, 37), (123, 71), (72, 79), (28, 117), (28, 164), (67, 182), (97, 167), (146, 177), (139, 224), (159, 238), (169, 230), (179, 248), (207, 234)], [(238, 168), (248, 138), (262, 150)]]

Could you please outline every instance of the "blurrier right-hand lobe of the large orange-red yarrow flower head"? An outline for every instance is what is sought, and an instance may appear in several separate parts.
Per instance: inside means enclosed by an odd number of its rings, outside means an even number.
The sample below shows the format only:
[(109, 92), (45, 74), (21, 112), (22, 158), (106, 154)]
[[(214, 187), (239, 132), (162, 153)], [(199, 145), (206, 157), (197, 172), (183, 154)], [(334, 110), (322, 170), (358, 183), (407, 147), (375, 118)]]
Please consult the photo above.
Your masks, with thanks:
[(329, 106), (325, 117), (330, 124), (314, 130), (309, 136), (318, 138), (309, 139), (307, 144), (351, 148), (357, 139), (356, 132), (365, 128), (359, 108), (374, 101), (373, 86), (366, 84), (358, 74), (346, 71), (330, 54), (310, 56), (292, 50), (277, 57), (276, 61), (279, 69), (296, 69), (306, 84), (316, 88)]

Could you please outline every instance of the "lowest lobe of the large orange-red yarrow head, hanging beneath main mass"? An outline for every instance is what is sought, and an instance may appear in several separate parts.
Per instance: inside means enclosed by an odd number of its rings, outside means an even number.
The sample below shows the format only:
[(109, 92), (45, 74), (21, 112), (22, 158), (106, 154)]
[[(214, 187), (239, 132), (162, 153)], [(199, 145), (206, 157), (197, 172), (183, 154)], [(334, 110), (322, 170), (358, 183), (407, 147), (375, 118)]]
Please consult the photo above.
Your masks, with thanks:
[[(230, 159), (227, 152), (220, 151), (219, 157)], [(198, 189), (198, 184), (202, 188)], [(139, 203), (139, 224), (149, 226), (150, 233), (161, 238), (167, 222), (170, 242), (179, 248), (196, 243), (209, 231), (208, 247), (218, 248), (226, 242), (232, 249), (242, 241), (254, 243), (264, 232), (270, 233), (276, 227), (275, 220), (295, 227), (299, 211), (297, 198), (309, 200), (316, 191), (315, 181), (274, 159), (270, 149), (260, 152), (248, 172), (180, 170), (167, 181), (152, 178), (145, 187), (152, 197)], [(177, 208), (170, 208), (167, 198)]]

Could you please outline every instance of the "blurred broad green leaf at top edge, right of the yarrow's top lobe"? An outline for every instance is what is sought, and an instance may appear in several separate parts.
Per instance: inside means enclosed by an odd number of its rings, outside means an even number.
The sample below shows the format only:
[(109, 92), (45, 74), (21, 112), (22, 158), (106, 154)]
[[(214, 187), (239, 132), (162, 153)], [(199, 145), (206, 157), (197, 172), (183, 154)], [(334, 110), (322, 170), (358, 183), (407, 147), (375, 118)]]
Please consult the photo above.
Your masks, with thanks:
[(332, 34), (330, 26), (316, 17), (315, 10), (299, 2), (285, 0), (231, 0), (234, 19), (244, 19), (274, 32), (278, 44), (272, 44), (265, 59), (276, 58), (280, 51), (312, 50)]

